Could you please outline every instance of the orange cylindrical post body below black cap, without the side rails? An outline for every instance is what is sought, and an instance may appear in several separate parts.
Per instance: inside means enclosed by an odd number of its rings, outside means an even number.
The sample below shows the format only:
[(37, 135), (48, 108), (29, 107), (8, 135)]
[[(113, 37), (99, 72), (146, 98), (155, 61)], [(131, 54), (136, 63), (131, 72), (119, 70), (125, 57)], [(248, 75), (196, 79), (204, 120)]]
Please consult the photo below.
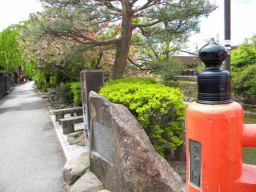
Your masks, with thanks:
[[(191, 170), (187, 156), (188, 191), (234, 191), (234, 182), (242, 175), (243, 108), (237, 102), (205, 105), (193, 102), (186, 112), (187, 140), (202, 145), (201, 173)], [(189, 145), (187, 151), (189, 151)], [(193, 179), (193, 177), (197, 177)], [(198, 180), (195, 184), (193, 180)]]

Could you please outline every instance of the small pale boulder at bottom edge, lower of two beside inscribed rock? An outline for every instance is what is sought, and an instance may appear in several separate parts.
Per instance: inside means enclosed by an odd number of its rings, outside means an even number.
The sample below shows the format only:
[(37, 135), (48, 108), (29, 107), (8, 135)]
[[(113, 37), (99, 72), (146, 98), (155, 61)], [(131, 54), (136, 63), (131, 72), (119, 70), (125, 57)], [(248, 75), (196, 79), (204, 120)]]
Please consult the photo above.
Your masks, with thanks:
[(102, 182), (92, 172), (87, 172), (74, 183), (69, 192), (98, 191), (102, 186)]

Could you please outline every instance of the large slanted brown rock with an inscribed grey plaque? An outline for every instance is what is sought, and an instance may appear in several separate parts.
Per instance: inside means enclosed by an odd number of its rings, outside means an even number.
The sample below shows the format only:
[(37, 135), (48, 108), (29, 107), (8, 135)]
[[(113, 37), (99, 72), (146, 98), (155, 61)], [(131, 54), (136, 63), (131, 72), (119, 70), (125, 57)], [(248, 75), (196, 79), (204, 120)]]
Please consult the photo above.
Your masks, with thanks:
[(89, 106), (89, 169), (104, 186), (112, 192), (182, 191), (181, 177), (156, 152), (127, 108), (95, 92), (90, 92)]

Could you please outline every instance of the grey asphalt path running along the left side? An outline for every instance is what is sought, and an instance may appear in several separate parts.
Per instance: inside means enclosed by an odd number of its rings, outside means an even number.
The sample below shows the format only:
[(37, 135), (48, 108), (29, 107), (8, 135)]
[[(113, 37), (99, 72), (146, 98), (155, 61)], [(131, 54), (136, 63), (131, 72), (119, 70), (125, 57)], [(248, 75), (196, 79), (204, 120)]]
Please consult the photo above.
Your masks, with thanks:
[(65, 191), (65, 160), (44, 101), (19, 85), (0, 100), (0, 191)]

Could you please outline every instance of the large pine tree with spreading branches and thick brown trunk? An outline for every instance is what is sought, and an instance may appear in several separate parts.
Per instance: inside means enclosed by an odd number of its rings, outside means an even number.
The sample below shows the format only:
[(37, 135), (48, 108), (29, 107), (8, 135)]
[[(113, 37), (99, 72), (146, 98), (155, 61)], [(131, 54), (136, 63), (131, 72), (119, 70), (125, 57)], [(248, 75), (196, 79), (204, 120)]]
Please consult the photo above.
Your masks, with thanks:
[[(115, 47), (111, 79), (124, 74), (134, 31), (147, 38), (164, 38), (165, 42), (186, 39), (191, 31), (199, 31), (200, 16), (216, 8), (204, 0), (40, 1), (45, 4), (45, 12), (37, 15), (40, 23), (34, 26), (35, 33), (70, 38), (91, 47)], [(109, 22), (120, 21), (120, 33), (106, 33)]]

